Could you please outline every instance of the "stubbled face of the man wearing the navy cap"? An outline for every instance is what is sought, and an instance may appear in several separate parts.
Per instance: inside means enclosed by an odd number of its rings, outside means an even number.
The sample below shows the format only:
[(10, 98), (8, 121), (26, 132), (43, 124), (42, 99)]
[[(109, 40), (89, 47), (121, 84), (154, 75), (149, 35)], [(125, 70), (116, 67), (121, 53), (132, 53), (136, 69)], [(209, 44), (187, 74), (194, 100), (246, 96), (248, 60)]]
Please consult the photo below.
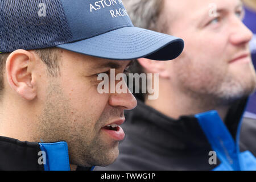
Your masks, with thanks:
[[(48, 77), (42, 85), (43, 111), (38, 117), (38, 137), (44, 142), (65, 140), (72, 164), (106, 166), (118, 156), (118, 140), (102, 127), (123, 121), (123, 110), (133, 109), (137, 102), (129, 94), (100, 94), (98, 73), (122, 73), (130, 61), (110, 61), (63, 51), (61, 76)], [(116, 66), (118, 65), (118, 66)], [(47, 93), (44, 95), (44, 93)], [(42, 97), (43, 96), (43, 97)]]

